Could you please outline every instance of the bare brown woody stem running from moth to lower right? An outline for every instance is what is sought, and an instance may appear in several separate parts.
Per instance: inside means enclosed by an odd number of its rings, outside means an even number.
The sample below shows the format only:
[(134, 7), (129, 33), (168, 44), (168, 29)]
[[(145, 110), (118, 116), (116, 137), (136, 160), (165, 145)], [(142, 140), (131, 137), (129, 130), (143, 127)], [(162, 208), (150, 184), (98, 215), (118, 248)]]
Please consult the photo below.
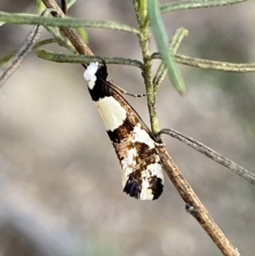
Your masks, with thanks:
[(194, 208), (195, 214), (192, 214), (192, 216), (195, 217), (201, 227), (212, 238), (212, 241), (225, 256), (238, 256), (235, 247), (233, 247), (227, 237), (224, 236), (222, 230), (220, 230), (218, 225), (213, 221), (212, 217), (207, 212), (207, 209), (202, 205), (195, 195), (195, 192), (190, 187), (190, 184), (184, 179), (184, 176), (180, 173), (172, 158), (168, 155), (166, 148), (158, 147), (157, 150), (161, 156), (163, 168), (167, 173), (167, 176), (172, 180), (173, 185), (184, 199), (184, 202)]

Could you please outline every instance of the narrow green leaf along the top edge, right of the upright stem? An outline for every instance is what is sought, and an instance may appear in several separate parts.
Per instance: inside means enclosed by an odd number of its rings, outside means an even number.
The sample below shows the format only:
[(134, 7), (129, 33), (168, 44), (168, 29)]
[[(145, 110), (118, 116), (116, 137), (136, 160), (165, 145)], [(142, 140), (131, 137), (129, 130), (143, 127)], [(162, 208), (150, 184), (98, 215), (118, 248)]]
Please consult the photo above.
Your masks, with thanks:
[(217, 7), (224, 5), (231, 5), (235, 3), (242, 3), (248, 0), (196, 0), (196, 1), (184, 1), (161, 4), (161, 14), (167, 14), (172, 11), (183, 9), (201, 9), (209, 7)]

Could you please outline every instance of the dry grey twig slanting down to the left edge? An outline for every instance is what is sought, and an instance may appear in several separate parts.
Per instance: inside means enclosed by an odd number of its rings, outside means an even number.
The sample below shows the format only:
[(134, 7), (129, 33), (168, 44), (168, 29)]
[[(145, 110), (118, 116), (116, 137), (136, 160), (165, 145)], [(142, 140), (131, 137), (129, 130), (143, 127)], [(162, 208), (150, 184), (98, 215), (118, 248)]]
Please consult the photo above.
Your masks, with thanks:
[[(48, 11), (44, 11), (42, 15), (47, 14)], [(34, 43), (40, 37), (42, 32), (42, 26), (34, 26), (29, 33), (24, 43), (22, 43), (19, 51), (14, 54), (14, 57), (9, 60), (8, 64), (3, 68), (3, 73), (0, 75), (0, 88), (3, 87), (4, 82), (14, 73), (14, 71), (20, 66), (20, 64), (26, 59), (33, 48)]]

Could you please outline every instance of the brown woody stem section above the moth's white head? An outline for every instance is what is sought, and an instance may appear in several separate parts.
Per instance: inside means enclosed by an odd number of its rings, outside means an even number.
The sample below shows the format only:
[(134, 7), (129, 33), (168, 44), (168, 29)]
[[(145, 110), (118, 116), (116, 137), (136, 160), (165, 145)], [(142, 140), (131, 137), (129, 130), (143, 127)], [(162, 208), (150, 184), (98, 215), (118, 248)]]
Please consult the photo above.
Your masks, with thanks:
[[(54, 0), (42, 0), (47, 8), (54, 9), (56, 14), (54, 16), (65, 18), (65, 14), (59, 8), (59, 5)], [(79, 54), (94, 55), (90, 48), (83, 42), (82, 37), (78, 34), (77, 30), (73, 28), (60, 28), (62, 35), (70, 40), (72, 45), (77, 49)]]

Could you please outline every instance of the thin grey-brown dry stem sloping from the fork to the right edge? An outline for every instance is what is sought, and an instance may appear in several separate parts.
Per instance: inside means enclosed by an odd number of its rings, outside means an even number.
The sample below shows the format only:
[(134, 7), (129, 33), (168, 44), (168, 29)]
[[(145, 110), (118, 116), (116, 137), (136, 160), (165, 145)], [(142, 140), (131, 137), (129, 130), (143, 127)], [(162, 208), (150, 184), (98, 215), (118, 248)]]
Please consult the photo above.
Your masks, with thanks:
[(255, 185), (255, 174), (250, 173), (248, 170), (242, 168), (240, 165), (236, 164), (235, 162), (232, 162), (228, 158), (221, 156), (216, 151), (213, 151), (206, 145), (203, 145), (201, 142), (190, 137), (187, 137), (183, 134), (180, 134), (177, 131), (174, 131), (173, 129), (161, 129), (159, 135), (160, 134), (170, 135), (173, 138), (184, 142), (186, 145), (190, 145), (193, 149), (195, 149), (195, 151), (201, 152), (203, 155), (211, 158), (215, 162), (218, 162), (225, 168), (229, 168), (229, 170), (233, 171), (235, 174), (238, 174), (243, 179), (246, 179), (247, 181)]

